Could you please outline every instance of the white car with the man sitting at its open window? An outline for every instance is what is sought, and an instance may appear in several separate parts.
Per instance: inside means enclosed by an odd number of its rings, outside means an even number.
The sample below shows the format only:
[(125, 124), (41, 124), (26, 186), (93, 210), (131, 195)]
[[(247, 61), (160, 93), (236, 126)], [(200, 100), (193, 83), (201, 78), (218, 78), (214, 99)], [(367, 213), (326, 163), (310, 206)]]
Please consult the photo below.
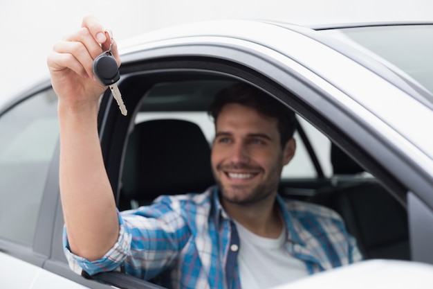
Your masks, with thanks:
[[(344, 278), (370, 288), (403, 288), (407, 281), (427, 288), (431, 282), (423, 281), (433, 276), (432, 51), (433, 23), (416, 22), (308, 27), (219, 20), (120, 43), (118, 86), (128, 114), (120, 114), (109, 91), (98, 114), (118, 208), (212, 184), (205, 168), (214, 137), (208, 105), (219, 89), (247, 82), (297, 116), (297, 152), (279, 193), (340, 213), (365, 257), (293, 288), (346, 288), (335, 282)], [(153, 132), (140, 129), (151, 121)], [(161, 144), (199, 143), (180, 123), (199, 125), (203, 154)], [(156, 161), (143, 161), (149, 157)], [(161, 288), (120, 272), (89, 277), (68, 268), (58, 171), (57, 96), (47, 79), (0, 107), (0, 287)]]

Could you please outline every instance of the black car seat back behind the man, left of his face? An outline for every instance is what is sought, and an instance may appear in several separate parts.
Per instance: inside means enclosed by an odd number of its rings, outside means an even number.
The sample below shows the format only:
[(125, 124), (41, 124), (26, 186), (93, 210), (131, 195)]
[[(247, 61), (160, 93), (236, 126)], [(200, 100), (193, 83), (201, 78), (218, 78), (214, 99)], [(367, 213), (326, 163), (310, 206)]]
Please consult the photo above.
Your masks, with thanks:
[(214, 184), (210, 145), (198, 125), (161, 119), (138, 123), (129, 136), (122, 192), (126, 198), (199, 193)]

